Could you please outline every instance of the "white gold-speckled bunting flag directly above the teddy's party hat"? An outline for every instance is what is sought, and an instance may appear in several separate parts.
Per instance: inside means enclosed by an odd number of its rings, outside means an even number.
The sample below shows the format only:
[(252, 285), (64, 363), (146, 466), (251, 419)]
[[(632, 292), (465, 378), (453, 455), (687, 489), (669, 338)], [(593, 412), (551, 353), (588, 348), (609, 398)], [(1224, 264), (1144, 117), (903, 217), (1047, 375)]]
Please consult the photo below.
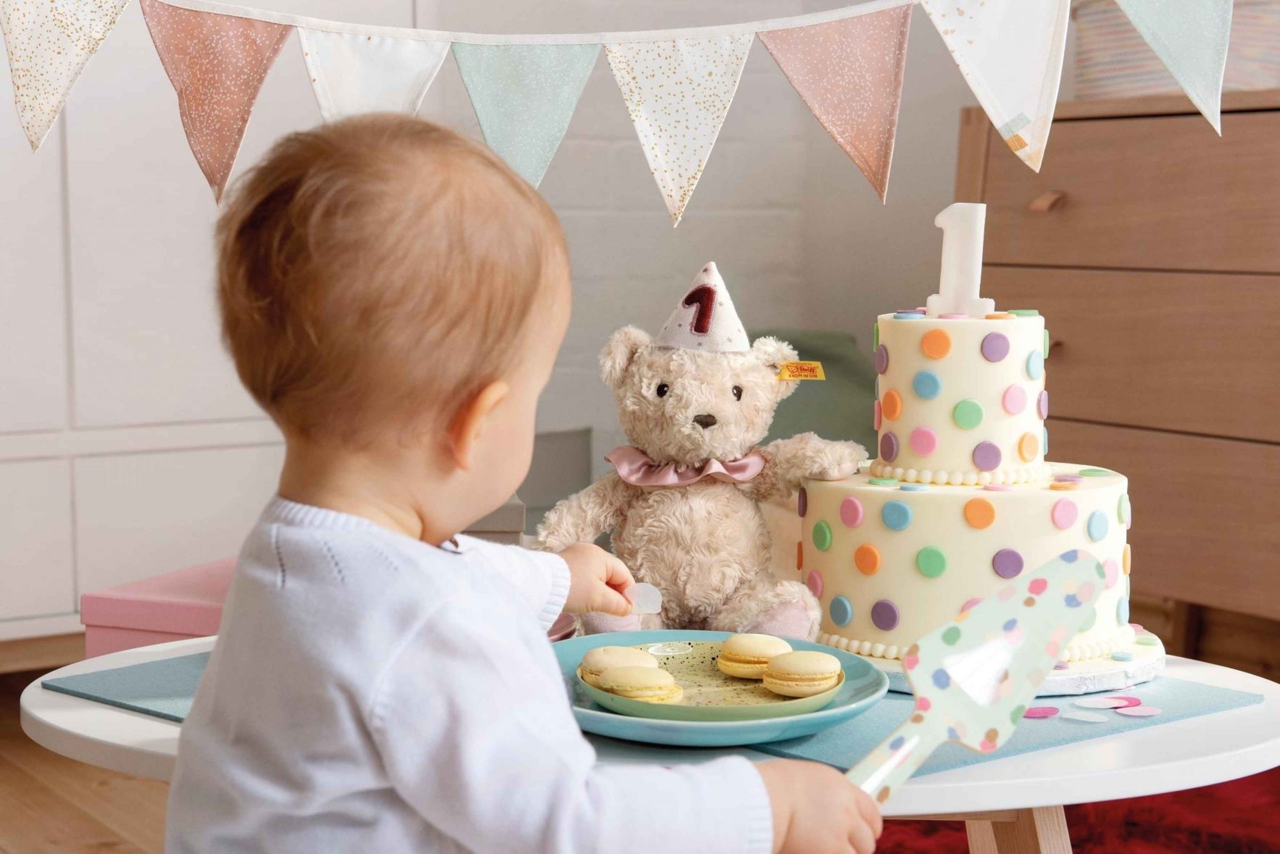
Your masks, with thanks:
[(604, 46), (675, 225), (728, 115), (753, 40), (739, 33)]

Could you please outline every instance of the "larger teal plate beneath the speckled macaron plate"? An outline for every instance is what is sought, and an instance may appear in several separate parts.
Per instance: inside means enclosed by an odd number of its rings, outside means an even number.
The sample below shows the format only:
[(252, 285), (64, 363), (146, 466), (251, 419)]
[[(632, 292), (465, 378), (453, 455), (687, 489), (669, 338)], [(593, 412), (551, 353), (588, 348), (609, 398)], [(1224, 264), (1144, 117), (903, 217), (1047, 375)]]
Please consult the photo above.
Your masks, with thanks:
[(582, 656), (595, 647), (654, 643), (721, 642), (730, 632), (613, 632), (571, 638), (552, 644), (568, 688), (573, 717), (585, 733), (646, 744), (673, 747), (737, 747), (812, 735), (844, 724), (876, 704), (888, 690), (888, 678), (858, 656), (808, 640), (791, 640), (795, 649), (814, 649), (840, 658), (845, 681), (831, 702), (815, 712), (746, 721), (672, 721), (618, 715), (598, 706), (577, 678)]

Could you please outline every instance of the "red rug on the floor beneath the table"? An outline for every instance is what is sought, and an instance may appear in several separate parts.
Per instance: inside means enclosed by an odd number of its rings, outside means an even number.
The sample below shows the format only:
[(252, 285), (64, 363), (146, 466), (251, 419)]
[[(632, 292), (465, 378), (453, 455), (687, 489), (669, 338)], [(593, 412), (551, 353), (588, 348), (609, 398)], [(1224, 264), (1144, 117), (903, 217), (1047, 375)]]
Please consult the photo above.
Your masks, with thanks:
[[(1216, 786), (1066, 808), (1075, 854), (1280, 853), (1280, 768)], [(886, 822), (881, 854), (968, 850), (961, 822)]]

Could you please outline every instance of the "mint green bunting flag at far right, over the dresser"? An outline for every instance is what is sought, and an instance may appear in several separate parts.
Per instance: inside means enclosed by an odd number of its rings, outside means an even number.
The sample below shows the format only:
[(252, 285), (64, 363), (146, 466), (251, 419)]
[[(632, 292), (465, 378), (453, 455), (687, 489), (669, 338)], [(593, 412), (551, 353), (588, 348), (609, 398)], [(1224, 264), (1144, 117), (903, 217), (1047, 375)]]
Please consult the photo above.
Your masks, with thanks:
[(1116, 0), (1116, 5), (1221, 136), (1231, 0)]

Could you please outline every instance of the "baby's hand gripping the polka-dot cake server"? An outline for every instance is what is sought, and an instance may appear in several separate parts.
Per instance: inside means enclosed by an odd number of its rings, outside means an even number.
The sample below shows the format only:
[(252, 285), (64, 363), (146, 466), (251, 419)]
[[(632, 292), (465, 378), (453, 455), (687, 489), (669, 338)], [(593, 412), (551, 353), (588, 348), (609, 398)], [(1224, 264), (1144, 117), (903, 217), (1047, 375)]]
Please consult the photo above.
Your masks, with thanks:
[(755, 766), (773, 807), (773, 854), (872, 854), (883, 823), (876, 803), (845, 775), (817, 762)]

